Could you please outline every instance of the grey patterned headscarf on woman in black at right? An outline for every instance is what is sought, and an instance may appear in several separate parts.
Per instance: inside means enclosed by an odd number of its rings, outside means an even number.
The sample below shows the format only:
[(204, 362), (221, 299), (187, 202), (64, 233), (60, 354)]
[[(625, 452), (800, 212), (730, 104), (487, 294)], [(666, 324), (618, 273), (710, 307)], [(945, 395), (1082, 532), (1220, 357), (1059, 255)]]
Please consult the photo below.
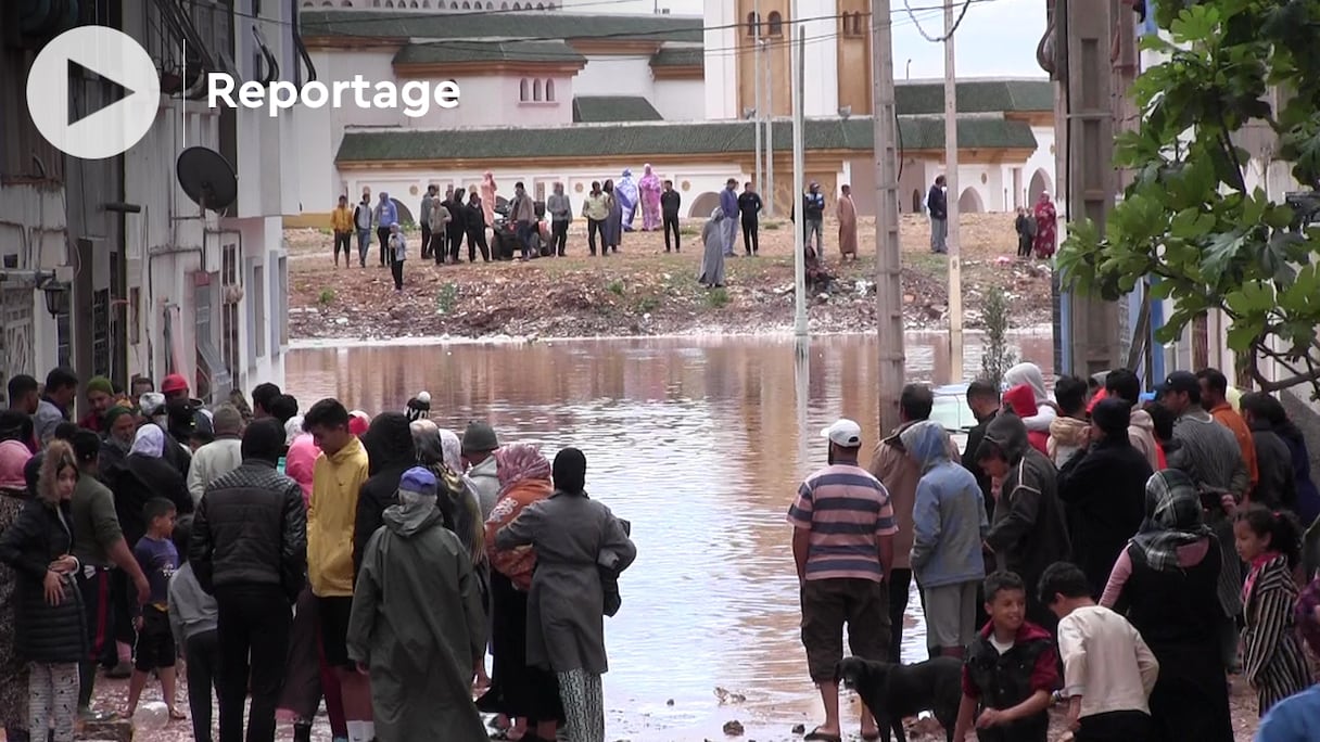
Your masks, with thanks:
[(1133, 537), (1146, 564), (1158, 572), (1179, 569), (1179, 548), (1213, 536), (1201, 518), (1196, 485), (1187, 474), (1166, 469), (1146, 481), (1146, 520)]

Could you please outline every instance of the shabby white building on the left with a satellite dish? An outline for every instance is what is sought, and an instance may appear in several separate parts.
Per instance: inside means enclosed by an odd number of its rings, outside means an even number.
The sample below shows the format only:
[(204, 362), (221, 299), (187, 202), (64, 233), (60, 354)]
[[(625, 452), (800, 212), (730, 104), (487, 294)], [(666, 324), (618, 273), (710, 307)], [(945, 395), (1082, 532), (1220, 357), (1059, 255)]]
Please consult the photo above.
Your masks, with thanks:
[[(267, 4), (259, 17), (220, 5), (193, 11), (189, 18), (162, 17), (156, 4), (124, 4), (119, 28), (165, 70), (156, 123), (127, 153), (75, 160), (50, 148), (21, 110), (0, 114), (4, 378), (41, 380), (66, 364), (84, 380), (106, 375), (127, 387), (136, 374), (158, 383), (178, 372), (207, 400), (231, 386), (282, 383), (281, 215), (297, 202), (281, 153), (293, 152), (293, 116), (207, 108), (185, 99), (193, 79), (181, 82), (177, 73), (187, 37), (189, 73), (238, 59), (232, 71), (261, 79), (273, 61), (292, 77), (292, 9)], [(24, 100), (36, 50), (65, 30), (58, 22), (33, 28), (21, 44), (0, 41), (5, 100)], [(106, 95), (99, 78), (70, 81), (73, 106), (95, 110)], [(202, 217), (180, 187), (176, 160), (186, 147), (213, 149), (236, 170), (239, 197), (223, 215)], [(38, 284), (53, 300), (65, 289), (53, 313)]]

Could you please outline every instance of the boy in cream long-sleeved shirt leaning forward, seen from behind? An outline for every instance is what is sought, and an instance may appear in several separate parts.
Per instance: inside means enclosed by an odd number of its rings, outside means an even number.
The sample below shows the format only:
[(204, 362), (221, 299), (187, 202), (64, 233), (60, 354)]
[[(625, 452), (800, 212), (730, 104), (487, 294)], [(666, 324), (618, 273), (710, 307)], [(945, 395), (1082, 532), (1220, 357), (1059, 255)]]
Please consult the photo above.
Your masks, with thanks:
[(1159, 661), (1127, 619), (1097, 606), (1081, 568), (1064, 561), (1040, 576), (1040, 602), (1059, 617), (1068, 724), (1076, 742), (1146, 742)]

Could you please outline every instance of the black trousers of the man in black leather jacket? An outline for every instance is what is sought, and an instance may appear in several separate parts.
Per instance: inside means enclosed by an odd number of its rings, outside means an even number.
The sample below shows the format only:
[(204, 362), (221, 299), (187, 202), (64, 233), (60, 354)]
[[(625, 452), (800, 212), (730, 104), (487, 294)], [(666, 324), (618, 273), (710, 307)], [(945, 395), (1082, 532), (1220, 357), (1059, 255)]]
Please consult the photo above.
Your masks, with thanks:
[(220, 742), (243, 742), (243, 702), (252, 693), (247, 742), (275, 742), (275, 708), (284, 687), (292, 611), (275, 585), (215, 589), (219, 609)]

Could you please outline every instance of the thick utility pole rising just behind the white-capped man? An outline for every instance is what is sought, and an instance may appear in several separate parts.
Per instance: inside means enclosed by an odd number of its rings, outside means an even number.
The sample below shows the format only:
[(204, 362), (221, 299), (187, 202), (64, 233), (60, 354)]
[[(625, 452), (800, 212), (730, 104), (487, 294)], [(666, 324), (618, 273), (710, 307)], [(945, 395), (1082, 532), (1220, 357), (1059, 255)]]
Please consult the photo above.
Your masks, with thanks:
[(899, 426), (903, 392), (903, 283), (899, 253), (898, 120), (890, 0), (871, 0), (871, 124), (875, 156), (875, 329), (879, 334), (880, 434)]

